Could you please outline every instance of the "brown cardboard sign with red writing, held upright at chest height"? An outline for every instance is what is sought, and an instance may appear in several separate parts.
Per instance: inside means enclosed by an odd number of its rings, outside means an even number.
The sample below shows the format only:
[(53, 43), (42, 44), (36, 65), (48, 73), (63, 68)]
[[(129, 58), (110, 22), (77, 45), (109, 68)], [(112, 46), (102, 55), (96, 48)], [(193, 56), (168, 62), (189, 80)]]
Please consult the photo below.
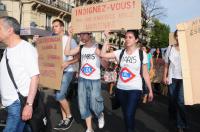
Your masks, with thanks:
[(42, 87), (59, 90), (63, 70), (62, 36), (41, 37), (36, 42)]

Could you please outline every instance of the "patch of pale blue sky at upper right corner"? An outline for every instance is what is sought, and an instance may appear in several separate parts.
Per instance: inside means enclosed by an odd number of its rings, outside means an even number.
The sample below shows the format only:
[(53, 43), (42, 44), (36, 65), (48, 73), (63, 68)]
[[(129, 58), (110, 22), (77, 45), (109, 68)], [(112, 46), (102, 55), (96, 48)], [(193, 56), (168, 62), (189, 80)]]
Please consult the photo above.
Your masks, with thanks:
[(171, 31), (178, 23), (200, 17), (200, 0), (160, 0), (160, 5), (167, 11), (160, 21), (169, 25)]

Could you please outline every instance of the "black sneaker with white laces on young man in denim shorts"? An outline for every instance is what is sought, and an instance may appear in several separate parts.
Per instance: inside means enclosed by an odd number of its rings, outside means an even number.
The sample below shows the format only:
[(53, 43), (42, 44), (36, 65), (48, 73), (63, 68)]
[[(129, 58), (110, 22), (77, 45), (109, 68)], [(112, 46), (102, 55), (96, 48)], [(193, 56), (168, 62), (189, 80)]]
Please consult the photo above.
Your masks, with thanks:
[(71, 127), (74, 118), (66, 118), (65, 120), (61, 120), (61, 122), (54, 128), (55, 130), (67, 130)]

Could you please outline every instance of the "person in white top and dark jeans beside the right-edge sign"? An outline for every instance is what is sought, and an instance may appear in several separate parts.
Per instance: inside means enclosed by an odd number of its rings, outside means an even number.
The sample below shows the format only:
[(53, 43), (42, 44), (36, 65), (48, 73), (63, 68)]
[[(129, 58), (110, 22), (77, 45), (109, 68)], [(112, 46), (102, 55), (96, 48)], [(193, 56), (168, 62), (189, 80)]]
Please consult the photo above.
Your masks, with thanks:
[(163, 82), (169, 86), (169, 116), (176, 120), (178, 132), (187, 128), (186, 109), (183, 96), (181, 57), (177, 30), (174, 33), (176, 45), (169, 46), (165, 56)]

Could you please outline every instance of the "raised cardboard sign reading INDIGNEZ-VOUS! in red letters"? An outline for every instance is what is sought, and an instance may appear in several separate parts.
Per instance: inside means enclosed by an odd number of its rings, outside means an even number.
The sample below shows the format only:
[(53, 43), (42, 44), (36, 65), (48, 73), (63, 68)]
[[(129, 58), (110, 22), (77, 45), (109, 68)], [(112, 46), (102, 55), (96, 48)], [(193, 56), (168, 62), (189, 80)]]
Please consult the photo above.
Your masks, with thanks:
[(75, 33), (140, 29), (141, 0), (117, 0), (72, 9)]

